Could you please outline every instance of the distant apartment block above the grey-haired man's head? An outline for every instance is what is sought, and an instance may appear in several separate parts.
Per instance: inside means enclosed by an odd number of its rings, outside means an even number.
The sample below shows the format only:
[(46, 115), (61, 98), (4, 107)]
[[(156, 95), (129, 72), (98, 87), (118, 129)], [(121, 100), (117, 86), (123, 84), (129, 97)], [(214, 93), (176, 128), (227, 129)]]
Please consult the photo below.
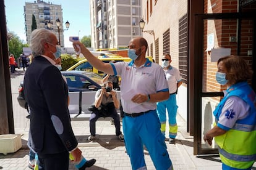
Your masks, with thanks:
[[(25, 2), (24, 18), (25, 18), (25, 31), (27, 36), (27, 43), (30, 43), (30, 35), (32, 33), (32, 18), (35, 16), (37, 28), (46, 28), (53, 30), (53, 33), (59, 38), (60, 44), (64, 47), (63, 31), (58, 33), (58, 26), (56, 20), (60, 21), (60, 30), (63, 30), (63, 17), (61, 5), (53, 4), (52, 2), (34, 1)], [(48, 27), (51, 23), (51, 28)]]

